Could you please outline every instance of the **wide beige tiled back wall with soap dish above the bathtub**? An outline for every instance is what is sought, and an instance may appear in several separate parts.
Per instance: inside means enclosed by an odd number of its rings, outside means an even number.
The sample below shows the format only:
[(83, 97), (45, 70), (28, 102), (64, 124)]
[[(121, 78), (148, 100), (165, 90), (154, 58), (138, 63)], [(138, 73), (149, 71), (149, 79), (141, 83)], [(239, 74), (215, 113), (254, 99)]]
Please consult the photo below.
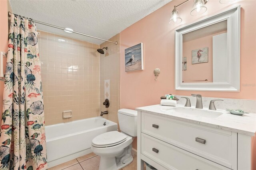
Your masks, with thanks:
[[(99, 45), (38, 32), (46, 125), (98, 116)], [(72, 118), (63, 119), (70, 110)]]

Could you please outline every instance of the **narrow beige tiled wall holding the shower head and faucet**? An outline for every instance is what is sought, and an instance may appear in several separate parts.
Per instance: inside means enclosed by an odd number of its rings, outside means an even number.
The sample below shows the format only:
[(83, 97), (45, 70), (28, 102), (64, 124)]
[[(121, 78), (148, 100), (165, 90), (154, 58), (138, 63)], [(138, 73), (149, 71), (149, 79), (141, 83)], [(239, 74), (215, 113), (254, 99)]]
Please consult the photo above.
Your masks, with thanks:
[[(108, 115), (103, 115), (103, 117), (118, 123), (117, 112), (120, 108), (119, 34), (116, 34), (114, 37), (110, 38), (110, 41), (118, 42), (118, 45), (110, 42), (100, 44), (100, 48), (108, 47), (108, 50), (104, 49), (104, 54), (100, 54), (100, 111), (108, 111)], [(108, 89), (105, 88), (105, 86), (110, 88), (110, 94), (105, 94), (107, 92), (105, 89)], [(110, 101), (110, 106), (108, 108), (105, 108), (105, 106), (102, 104), (105, 101), (105, 95), (106, 97), (108, 96)]]

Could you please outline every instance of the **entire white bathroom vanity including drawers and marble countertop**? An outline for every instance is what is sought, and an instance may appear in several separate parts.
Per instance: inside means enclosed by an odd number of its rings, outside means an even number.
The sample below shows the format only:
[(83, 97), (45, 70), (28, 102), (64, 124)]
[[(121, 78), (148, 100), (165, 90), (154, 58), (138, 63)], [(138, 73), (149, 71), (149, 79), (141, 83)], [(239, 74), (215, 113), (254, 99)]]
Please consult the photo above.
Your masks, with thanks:
[(138, 170), (250, 170), (256, 114), (152, 105), (138, 111)]

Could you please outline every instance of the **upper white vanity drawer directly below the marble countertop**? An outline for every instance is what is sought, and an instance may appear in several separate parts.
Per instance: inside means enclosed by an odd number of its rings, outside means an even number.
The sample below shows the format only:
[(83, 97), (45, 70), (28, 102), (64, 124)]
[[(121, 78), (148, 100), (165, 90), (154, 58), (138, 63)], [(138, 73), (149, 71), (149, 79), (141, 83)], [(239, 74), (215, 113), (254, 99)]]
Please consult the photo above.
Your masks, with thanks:
[(231, 169), (237, 167), (237, 133), (142, 112), (141, 131)]

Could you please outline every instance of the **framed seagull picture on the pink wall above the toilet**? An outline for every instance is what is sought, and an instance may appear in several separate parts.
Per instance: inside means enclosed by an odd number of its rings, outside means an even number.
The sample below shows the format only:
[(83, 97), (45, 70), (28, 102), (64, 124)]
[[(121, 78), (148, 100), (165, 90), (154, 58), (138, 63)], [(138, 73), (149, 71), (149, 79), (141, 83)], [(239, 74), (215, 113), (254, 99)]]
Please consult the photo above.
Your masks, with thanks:
[(125, 71), (143, 70), (143, 43), (126, 48)]

